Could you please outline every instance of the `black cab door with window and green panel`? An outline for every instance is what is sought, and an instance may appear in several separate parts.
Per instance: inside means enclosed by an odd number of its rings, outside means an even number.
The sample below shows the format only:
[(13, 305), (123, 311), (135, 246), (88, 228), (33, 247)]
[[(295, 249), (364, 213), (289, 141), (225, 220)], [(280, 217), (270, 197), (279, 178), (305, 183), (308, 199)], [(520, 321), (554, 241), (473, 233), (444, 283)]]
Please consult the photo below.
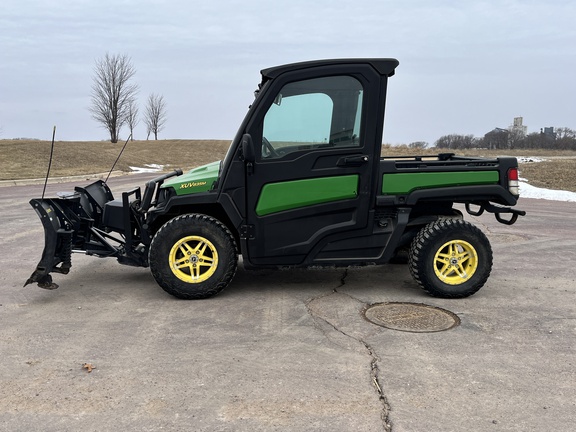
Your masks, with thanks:
[(246, 172), (250, 263), (306, 265), (354, 255), (342, 239), (372, 229), (382, 119), (368, 107), (379, 104), (380, 78), (354, 65), (342, 74), (313, 68), (271, 83), (246, 130), (256, 153)]

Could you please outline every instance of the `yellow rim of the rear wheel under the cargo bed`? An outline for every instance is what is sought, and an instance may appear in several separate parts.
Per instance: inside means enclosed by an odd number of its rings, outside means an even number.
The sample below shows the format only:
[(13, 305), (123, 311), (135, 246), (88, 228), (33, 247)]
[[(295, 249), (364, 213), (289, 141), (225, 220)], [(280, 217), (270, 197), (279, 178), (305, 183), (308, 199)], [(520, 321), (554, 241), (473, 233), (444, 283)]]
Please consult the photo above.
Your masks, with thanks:
[(478, 268), (476, 249), (463, 240), (444, 243), (434, 255), (434, 272), (438, 279), (448, 285), (460, 285), (468, 281)]

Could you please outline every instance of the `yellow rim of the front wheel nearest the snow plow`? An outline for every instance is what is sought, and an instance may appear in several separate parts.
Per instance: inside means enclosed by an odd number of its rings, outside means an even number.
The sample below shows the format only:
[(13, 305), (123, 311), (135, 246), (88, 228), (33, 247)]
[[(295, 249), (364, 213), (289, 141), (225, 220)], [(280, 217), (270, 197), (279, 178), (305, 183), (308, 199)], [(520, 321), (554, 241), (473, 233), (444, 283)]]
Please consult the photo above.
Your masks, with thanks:
[(218, 252), (212, 242), (204, 237), (188, 236), (172, 246), (168, 261), (178, 279), (187, 283), (200, 283), (216, 271)]

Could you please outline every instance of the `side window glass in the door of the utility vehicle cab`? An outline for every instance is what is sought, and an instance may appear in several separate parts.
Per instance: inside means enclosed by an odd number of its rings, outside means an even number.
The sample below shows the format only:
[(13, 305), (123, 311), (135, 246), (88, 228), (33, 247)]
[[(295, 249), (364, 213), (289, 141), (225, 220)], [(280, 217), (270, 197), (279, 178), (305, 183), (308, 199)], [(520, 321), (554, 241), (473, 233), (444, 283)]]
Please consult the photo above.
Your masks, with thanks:
[(350, 76), (286, 84), (264, 118), (262, 157), (360, 145), (362, 85)]

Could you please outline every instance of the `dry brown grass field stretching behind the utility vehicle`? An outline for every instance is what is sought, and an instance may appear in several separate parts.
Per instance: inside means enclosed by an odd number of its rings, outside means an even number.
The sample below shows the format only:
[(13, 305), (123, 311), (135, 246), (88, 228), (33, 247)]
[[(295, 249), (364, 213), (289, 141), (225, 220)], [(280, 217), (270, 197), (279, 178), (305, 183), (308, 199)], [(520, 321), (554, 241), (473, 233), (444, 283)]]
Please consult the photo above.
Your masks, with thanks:
[[(57, 141), (50, 175), (61, 177), (108, 172), (118, 157), (123, 142), (111, 144), (105, 141)], [(187, 170), (222, 159), (230, 141), (221, 140), (158, 140), (131, 141), (128, 143), (115, 170), (129, 172), (131, 166), (146, 164), (164, 165), (165, 170)], [(385, 146), (385, 156), (438, 153), (435, 149), (412, 150)], [(536, 157), (543, 162), (520, 164), (520, 175), (532, 185), (549, 189), (576, 192), (576, 152), (547, 150), (501, 151), (467, 150), (458, 152), (463, 156), (516, 156)], [(50, 156), (49, 141), (0, 140), (0, 180), (43, 178)]]

